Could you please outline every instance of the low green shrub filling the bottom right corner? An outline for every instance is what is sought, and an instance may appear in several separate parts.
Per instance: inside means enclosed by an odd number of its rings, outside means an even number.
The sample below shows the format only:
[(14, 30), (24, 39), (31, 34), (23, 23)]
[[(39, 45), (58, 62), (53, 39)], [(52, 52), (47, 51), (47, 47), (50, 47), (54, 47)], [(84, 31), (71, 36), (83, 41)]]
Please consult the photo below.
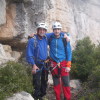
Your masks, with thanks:
[(77, 100), (100, 100), (100, 66), (96, 66), (84, 83)]

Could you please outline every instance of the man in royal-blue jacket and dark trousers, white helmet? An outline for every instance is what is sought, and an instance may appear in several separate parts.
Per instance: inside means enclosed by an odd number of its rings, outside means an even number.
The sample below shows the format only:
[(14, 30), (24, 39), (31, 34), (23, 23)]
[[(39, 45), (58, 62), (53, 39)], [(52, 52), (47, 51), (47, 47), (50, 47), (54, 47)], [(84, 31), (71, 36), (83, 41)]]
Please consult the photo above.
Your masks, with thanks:
[(46, 94), (48, 71), (45, 69), (44, 61), (47, 59), (47, 25), (39, 23), (37, 35), (30, 38), (26, 48), (27, 62), (32, 65), (33, 86), (35, 100), (42, 100)]

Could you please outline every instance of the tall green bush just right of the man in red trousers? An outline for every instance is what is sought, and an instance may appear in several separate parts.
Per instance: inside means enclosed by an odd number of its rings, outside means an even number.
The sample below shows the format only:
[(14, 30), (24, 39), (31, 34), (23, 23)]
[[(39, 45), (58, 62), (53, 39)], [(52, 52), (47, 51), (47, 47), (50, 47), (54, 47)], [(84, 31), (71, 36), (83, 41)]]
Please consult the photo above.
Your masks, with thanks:
[[(71, 75), (81, 81), (86, 81), (92, 69), (100, 63), (100, 59), (96, 58), (100, 49), (96, 52), (95, 45), (91, 43), (89, 37), (79, 40), (73, 51), (72, 71)], [(100, 53), (99, 53), (100, 55)], [(100, 56), (99, 56), (100, 57)], [(95, 60), (97, 59), (97, 61)]]

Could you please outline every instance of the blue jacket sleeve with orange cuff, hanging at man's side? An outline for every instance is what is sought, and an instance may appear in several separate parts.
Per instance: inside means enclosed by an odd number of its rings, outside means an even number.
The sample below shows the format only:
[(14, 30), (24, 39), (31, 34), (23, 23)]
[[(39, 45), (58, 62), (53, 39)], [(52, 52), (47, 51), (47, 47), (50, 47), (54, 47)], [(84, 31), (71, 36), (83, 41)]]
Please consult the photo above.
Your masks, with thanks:
[(67, 58), (67, 67), (71, 67), (71, 60), (72, 60), (72, 50), (70, 42), (67, 42), (66, 46), (66, 58)]

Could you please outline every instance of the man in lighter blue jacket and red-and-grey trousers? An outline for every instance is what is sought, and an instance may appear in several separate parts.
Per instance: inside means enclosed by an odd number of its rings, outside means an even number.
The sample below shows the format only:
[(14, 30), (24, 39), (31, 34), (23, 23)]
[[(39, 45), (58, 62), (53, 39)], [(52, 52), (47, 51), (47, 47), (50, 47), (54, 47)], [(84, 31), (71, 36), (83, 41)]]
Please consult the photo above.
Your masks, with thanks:
[(53, 34), (50, 37), (49, 46), (56, 100), (61, 100), (61, 87), (64, 93), (64, 100), (71, 100), (69, 72), (72, 52), (70, 41), (64, 42), (64, 36), (61, 34), (62, 26), (59, 22), (55, 22), (52, 28)]

